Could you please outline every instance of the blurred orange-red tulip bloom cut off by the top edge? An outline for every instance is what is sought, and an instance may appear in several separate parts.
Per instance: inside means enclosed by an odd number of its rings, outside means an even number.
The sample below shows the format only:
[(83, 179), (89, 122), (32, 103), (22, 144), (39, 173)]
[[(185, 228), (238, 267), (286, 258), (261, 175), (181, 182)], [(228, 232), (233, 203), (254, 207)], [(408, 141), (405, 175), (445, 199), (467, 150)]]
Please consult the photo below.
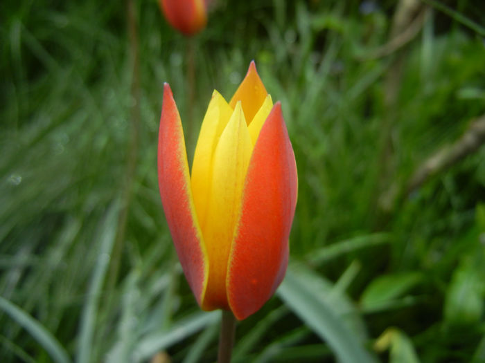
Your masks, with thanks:
[(168, 23), (185, 35), (194, 35), (205, 28), (207, 2), (208, 0), (159, 0)]

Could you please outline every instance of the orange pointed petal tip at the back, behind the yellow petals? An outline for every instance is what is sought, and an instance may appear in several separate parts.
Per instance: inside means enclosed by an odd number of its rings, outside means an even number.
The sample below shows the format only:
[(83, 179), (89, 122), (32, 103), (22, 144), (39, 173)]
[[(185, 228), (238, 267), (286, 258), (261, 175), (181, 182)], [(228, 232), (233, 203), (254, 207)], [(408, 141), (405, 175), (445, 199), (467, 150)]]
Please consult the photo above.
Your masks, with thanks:
[(256, 71), (256, 64), (254, 61), (249, 64), (249, 69), (247, 70), (246, 77), (243, 82), (239, 85), (238, 90), (231, 98), (229, 106), (233, 109), (236, 108), (236, 103), (241, 102), (243, 106), (243, 112), (247, 121), (247, 124), (251, 124), (254, 115), (261, 108), (261, 105), (265, 101), (267, 92), (265, 85), (261, 82), (261, 78)]

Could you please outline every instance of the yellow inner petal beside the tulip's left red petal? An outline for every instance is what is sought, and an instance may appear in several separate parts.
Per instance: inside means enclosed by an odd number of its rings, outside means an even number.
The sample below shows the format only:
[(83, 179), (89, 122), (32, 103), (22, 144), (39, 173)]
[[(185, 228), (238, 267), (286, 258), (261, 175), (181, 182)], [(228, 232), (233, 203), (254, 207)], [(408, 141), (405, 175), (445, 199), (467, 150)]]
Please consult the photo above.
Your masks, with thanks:
[(200, 225), (205, 223), (211, 192), (213, 153), (232, 113), (233, 109), (229, 107), (224, 97), (218, 91), (214, 91), (202, 121), (192, 163), (192, 194)]

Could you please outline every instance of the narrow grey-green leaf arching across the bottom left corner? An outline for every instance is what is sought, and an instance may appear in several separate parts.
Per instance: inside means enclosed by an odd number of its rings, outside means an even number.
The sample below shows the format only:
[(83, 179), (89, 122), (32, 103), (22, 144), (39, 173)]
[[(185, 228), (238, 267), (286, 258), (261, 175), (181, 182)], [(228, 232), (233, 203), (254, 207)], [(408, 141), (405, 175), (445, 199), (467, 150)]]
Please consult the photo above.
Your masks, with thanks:
[(17, 305), (0, 296), (0, 309), (8, 314), (18, 324), (23, 326), (30, 335), (47, 351), (52, 360), (57, 363), (69, 363), (69, 355), (57, 339), (36, 319), (21, 310)]

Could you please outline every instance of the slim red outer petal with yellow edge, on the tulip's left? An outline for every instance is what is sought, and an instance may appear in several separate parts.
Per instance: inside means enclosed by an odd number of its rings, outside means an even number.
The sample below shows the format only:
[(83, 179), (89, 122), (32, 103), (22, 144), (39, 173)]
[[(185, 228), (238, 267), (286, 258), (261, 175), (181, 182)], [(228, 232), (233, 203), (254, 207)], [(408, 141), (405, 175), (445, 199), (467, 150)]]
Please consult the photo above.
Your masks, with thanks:
[(209, 263), (191, 192), (184, 131), (170, 86), (164, 84), (158, 143), (161, 203), (188, 285), (201, 304)]

